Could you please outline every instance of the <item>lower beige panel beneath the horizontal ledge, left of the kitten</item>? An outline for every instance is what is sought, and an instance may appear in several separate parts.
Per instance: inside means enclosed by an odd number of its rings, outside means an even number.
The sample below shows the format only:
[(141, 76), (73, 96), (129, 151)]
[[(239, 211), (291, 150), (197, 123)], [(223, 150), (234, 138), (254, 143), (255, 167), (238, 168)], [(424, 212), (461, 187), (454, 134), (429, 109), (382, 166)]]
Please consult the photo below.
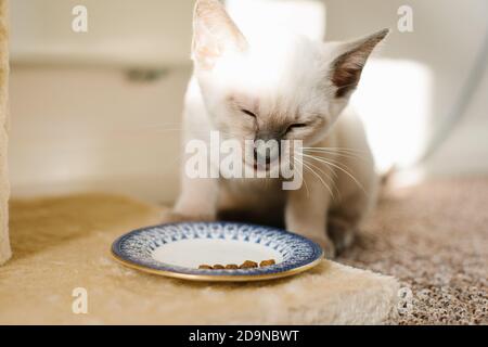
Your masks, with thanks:
[(154, 82), (117, 69), (13, 66), (14, 196), (116, 191), (169, 202), (178, 192), (189, 68)]

